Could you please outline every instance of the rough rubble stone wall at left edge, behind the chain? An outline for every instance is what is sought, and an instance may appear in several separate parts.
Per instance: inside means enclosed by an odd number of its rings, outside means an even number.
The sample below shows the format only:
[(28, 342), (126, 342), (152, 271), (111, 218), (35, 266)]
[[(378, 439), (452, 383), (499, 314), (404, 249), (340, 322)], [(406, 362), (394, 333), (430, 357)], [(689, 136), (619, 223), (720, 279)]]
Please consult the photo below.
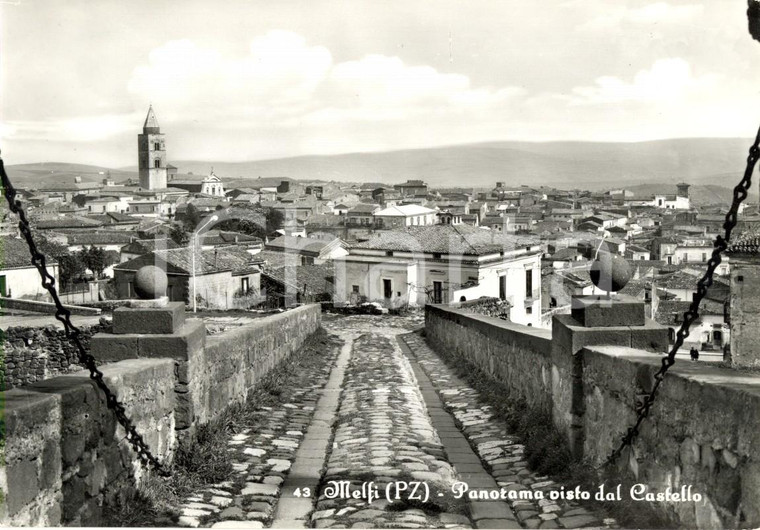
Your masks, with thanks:
[[(109, 327), (105, 320), (96, 326), (82, 326), (85, 347), (95, 333)], [(76, 347), (66, 338), (66, 332), (55, 326), (0, 330), (0, 341), (0, 388), (4, 390), (82, 369)]]

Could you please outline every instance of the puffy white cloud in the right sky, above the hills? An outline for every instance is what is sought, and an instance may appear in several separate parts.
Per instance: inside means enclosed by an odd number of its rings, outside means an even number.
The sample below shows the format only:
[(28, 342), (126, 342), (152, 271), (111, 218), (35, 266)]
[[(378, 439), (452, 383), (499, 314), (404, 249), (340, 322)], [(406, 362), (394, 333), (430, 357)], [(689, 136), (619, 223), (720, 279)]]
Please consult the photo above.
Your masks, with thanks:
[(639, 71), (632, 82), (603, 76), (594, 85), (573, 89), (576, 104), (620, 103), (639, 101), (670, 103), (679, 98), (704, 93), (718, 86), (720, 76), (695, 77), (688, 62), (681, 58), (658, 59), (652, 67)]

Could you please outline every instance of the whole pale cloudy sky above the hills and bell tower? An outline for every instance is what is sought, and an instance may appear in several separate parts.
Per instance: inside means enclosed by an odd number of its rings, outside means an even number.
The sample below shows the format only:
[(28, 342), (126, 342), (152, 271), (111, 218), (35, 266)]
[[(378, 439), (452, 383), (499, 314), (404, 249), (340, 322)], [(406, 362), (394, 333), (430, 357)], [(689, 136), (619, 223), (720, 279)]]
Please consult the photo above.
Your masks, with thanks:
[(752, 136), (746, 1), (0, 0), (6, 163)]

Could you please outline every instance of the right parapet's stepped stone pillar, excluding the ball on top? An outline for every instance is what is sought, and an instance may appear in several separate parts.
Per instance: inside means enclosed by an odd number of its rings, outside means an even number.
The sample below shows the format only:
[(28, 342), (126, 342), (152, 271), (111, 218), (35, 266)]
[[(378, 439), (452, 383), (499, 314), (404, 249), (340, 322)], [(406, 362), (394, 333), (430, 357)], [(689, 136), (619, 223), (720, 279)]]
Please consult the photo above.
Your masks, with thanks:
[(665, 353), (668, 330), (646, 318), (643, 301), (623, 295), (576, 296), (571, 314), (552, 321), (552, 415), (574, 456), (583, 456), (585, 396), (583, 348), (626, 346)]

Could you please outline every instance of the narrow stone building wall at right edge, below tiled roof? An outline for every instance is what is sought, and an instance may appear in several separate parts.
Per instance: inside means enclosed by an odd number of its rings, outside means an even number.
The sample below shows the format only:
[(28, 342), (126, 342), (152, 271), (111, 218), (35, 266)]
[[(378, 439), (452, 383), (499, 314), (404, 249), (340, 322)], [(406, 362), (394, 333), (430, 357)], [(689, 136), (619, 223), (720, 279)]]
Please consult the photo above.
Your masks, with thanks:
[[(742, 250), (746, 250), (742, 249)], [(760, 254), (732, 252), (731, 350), (732, 366), (760, 367)]]

